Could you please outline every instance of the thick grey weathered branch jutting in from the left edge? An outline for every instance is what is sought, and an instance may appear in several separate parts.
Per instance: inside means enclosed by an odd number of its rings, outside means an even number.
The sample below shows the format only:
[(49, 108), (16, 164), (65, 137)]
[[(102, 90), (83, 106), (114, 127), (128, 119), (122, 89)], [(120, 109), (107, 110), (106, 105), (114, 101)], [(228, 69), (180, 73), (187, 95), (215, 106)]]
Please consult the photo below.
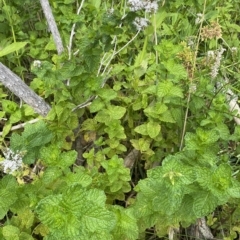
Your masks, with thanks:
[(0, 82), (12, 93), (31, 106), (41, 116), (47, 116), (50, 106), (39, 97), (21, 78), (0, 63)]

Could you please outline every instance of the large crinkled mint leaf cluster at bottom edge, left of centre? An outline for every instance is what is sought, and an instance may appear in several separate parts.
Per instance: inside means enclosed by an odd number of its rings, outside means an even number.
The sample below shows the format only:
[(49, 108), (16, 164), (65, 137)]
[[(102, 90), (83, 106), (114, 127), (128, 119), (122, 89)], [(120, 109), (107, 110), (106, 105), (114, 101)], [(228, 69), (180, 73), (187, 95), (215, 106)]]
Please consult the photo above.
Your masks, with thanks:
[[(86, 190), (80, 185), (67, 188), (61, 195), (42, 199), (36, 212), (50, 232), (74, 239), (82, 233), (109, 232), (115, 216), (105, 208), (106, 197), (97, 189)], [(81, 226), (81, 228), (79, 228)]]

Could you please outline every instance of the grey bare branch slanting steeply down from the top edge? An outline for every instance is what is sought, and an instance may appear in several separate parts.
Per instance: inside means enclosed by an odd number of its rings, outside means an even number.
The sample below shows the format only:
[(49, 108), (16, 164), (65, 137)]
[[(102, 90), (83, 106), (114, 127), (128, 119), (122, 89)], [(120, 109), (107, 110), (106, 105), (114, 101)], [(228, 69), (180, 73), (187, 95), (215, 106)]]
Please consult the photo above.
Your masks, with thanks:
[(63, 43), (62, 43), (60, 33), (58, 31), (58, 28), (57, 28), (57, 24), (55, 22), (53, 14), (52, 14), (52, 9), (49, 5), (48, 0), (40, 0), (40, 3), (41, 3), (41, 6), (42, 6), (42, 9), (43, 9), (45, 18), (47, 19), (49, 29), (50, 29), (50, 31), (53, 35), (53, 40), (55, 42), (58, 55), (60, 55), (64, 51), (64, 47), (63, 47)]

